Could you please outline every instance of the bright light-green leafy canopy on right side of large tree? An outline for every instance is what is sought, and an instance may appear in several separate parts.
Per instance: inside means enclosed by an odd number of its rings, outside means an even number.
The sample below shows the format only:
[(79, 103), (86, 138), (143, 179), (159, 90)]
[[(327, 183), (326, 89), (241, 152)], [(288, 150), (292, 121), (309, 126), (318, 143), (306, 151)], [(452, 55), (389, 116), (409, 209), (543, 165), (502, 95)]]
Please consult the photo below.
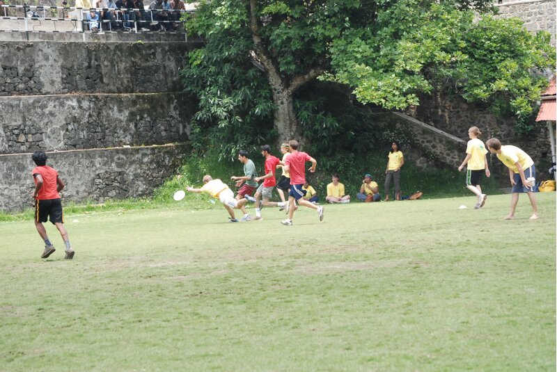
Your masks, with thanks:
[[(425, 4), (425, 6), (424, 6)], [(517, 18), (483, 15), (447, 3), (403, 0), (380, 11), (377, 32), (350, 30), (331, 45), (336, 79), (361, 102), (403, 109), (418, 93), (457, 93), (469, 102), (508, 106), (517, 129), (531, 130), (533, 102), (547, 86), (555, 49), (547, 32), (532, 34)]]

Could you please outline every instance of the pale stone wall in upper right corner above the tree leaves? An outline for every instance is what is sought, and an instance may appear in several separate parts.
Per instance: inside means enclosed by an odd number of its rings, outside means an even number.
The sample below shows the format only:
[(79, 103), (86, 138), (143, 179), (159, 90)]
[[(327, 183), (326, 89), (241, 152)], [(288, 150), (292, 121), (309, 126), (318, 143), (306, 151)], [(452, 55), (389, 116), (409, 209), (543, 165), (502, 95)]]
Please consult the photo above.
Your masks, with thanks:
[(556, 1), (555, 0), (503, 0), (495, 4), (499, 17), (519, 17), (524, 21), (528, 31), (548, 31), (551, 33), (551, 45), (555, 47)]

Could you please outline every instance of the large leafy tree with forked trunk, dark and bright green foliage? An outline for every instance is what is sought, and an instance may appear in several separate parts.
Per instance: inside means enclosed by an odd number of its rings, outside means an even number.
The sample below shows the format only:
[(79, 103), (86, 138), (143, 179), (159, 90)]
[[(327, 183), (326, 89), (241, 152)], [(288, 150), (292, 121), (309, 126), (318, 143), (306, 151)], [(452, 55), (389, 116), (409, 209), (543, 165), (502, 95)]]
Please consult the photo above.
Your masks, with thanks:
[(200, 98), (198, 122), (240, 133), (240, 143), (264, 132), (299, 136), (295, 94), (318, 76), (384, 108), (418, 104), (419, 93), (439, 89), (528, 113), (555, 51), (547, 33), (491, 17), (489, 3), (201, 1), (188, 29), (206, 44), (182, 76)]

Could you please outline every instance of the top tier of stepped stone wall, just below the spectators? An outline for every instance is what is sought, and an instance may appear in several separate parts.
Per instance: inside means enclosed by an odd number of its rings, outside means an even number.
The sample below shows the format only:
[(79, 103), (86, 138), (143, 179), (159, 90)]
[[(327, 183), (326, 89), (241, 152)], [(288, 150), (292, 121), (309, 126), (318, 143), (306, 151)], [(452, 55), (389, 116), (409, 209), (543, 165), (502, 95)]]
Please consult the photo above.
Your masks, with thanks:
[(175, 92), (186, 42), (0, 42), (0, 95)]

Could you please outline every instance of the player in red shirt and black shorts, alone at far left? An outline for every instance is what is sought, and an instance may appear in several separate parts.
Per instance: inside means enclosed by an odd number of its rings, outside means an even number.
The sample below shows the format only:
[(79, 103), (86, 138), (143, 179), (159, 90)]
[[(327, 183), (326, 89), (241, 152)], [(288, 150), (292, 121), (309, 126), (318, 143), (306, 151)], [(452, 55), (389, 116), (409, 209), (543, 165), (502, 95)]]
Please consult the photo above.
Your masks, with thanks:
[(40, 258), (49, 257), (56, 249), (50, 243), (47, 236), (47, 230), (42, 223), (49, 219), (51, 223), (56, 225), (65, 243), (65, 259), (74, 258), (74, 250), (70, 245), (68, 232), (64, 227), (64, 212), (62, 210), (62, 202), (59, 192), (64, 188), (64, 183), (58, 176), (58, 172), (47, 165), (47, 154), (42, 151), (36, 151), (31, 159), (37, 165), (31, 175), (35, 181), (35, 190), (33, 190), (33, 200), (35, 200), (35, 227), (39, 232), (42, 240), (45, 241), (45, 252), (42, 252)]

